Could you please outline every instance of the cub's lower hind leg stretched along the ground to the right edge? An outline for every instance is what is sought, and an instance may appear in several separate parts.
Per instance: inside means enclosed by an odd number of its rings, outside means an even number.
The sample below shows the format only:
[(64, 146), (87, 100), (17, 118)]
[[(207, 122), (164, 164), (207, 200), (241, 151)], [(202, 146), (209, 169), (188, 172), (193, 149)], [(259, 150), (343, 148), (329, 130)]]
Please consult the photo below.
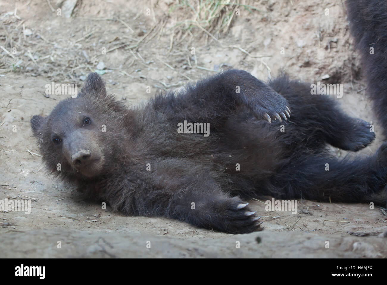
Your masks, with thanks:
[[(261, 181), (262, 182), (262, 181)], [(387, 183), (387, 143), (366, 159), (338, 160), (328, 154), (294, 155), (261, 189), (280, 199), (374, 202)]]

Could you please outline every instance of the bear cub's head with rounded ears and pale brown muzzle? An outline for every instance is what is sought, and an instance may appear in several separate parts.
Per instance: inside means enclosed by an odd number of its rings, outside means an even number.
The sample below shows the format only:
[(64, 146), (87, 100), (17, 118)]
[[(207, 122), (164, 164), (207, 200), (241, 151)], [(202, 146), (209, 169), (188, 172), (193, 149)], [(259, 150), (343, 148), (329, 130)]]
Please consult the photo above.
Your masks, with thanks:
[(110, 127), (125, 117), (124, 113), (125, 107), (106, 95), (101, 76), (89, 74), (77, 97), (62, 100), (46, 117), (31, 119), (48, 170), (68, 180), (106, 173), (117, 136)]

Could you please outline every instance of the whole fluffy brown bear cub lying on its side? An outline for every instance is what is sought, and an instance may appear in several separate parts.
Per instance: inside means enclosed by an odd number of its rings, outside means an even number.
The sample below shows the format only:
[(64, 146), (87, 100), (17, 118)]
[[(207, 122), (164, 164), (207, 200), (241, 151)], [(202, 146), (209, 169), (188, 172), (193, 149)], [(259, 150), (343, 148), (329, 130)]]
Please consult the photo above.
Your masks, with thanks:
[(327, 144), (357, 151), (375, 135), (310, 90), (229, 70), (129, 109), (91, 73), (31, 128), (51, 173), (115, 211), (249, 233), (261, 229), (253, 197), (369, 202), (387, 183), (386, 144), (365, 159), (328, 153)]

